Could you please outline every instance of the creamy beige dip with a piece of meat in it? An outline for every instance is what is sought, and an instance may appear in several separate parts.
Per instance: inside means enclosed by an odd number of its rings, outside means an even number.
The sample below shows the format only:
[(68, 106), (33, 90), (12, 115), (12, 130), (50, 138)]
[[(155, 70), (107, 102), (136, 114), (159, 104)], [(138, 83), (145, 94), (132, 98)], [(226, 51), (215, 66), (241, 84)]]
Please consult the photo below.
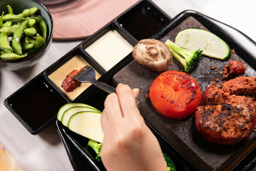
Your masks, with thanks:
[[(83, 57), (76, 55), (72, 57), (69, 61), (64, 63), (60, 68), (55, 70), (49, 75), (49, 79), (70, 99), (74, 100), (79, 94), (81, 94), (86, 88), (88, 88), (91, 83), (81, 83), (81, 85), (75, 88), (72, 92), (66, 92), (61, 84), (63, 83), (66, 76), (73, 70), (79, 70), (80, 68), (89, 65)], [(96, 79), (101, 75), (96, 71)]]

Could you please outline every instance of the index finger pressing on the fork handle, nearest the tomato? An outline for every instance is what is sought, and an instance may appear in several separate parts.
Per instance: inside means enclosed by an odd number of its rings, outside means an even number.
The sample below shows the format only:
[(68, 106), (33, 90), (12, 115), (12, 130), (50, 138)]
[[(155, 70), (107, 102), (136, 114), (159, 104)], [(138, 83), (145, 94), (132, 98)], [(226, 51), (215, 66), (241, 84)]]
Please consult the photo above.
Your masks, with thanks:
[(128, 85), (119, 84), (116, 88), (119, 103), (122, 109), (123, 116), (131, 116), (133, 113), (138, 113), (134, 95), (137, 96), (138, 90), (131, 90)]

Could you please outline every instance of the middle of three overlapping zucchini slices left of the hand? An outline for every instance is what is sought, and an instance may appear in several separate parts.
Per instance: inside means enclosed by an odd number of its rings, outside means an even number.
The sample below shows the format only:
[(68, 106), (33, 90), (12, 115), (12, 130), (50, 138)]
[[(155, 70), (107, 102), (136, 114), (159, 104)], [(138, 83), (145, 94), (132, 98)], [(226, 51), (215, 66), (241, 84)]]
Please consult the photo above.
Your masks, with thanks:
[(77, 113), (77, 112), (83, 112), (83, 111), (94, 111), (94, 112), (99, 112), (97, 109), (93, 109), (93, 108), (89, 108), (89, 107), (84, 107), (84, 106), (74, 106), (74, 107), (71, 107), (69, 109), (67, 109), (63, 115), (62, 115), (62, 118), (61, 118), (61, 122), (64, 126), (68, 127), (67, 126), (67, 123), (70, 119), (70, 117)]

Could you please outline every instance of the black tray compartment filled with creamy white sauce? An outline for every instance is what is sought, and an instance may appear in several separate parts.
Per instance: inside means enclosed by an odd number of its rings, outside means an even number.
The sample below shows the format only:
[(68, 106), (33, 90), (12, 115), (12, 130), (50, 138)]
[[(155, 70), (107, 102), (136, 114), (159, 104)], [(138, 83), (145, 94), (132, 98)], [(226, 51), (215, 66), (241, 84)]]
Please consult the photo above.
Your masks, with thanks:
[(131, 39), (119, 25), (112, 22), (90, 37), (82, 48), (108, 71), (132, 52), (135, 44), (136, 41)]

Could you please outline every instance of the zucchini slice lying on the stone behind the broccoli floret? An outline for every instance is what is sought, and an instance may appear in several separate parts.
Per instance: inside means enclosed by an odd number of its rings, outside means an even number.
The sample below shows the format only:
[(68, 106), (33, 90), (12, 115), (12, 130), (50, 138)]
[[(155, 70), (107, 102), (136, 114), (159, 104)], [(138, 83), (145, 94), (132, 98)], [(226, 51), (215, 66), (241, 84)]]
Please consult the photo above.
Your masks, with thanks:
[(188, 50), (203, 50), (202, 54), (208, 57), (223, 60), (231, 57), (231, 49), (225, 41), (202, 29), (189, 28), (182, 30), (177, 34), (174, 43)]

